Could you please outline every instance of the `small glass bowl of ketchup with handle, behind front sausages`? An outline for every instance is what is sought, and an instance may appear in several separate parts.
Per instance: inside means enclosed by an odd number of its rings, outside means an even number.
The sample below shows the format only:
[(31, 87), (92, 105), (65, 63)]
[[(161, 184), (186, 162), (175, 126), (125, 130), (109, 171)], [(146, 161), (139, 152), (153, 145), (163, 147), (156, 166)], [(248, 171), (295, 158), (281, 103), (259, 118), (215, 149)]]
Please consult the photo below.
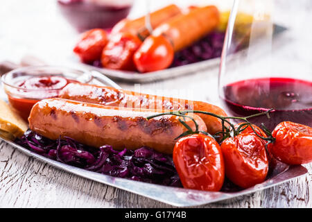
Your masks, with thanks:
[(58, 97), (69, 83), (89, 83), (92, 75), (85, 70), (40, 66), (15, 69), (1, 80), (10, 105), (27, 121), (37, 101)]

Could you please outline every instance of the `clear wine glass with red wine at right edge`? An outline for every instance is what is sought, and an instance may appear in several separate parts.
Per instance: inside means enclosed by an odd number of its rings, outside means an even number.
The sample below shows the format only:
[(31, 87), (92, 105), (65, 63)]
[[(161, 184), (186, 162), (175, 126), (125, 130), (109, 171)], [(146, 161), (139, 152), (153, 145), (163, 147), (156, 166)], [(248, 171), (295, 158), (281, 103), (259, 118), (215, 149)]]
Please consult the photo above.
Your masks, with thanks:
[(218, 92), (227, 112), (269, 130), (281, 121), (312, 126), (312, 1), (234, 0)]

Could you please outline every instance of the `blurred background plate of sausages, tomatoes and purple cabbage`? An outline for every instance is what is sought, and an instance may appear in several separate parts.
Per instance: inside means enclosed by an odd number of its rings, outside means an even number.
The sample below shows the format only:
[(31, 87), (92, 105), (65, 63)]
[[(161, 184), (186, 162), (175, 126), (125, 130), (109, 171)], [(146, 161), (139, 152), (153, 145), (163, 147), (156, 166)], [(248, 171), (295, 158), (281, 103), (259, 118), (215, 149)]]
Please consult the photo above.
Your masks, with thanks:
[[(216, 6), (179, 8), (169, 5), (146, 17), (122, 19), (112, 31), (93, 29), (81, 35), (73, 52), (87, 69), (127, 82), (144, 83), (217, 67), (225, 39), (229, 12)], [(243, 35), (236, 35), (234, 54), (243, 52), (254, 18), (242, 15)], [(284, 26), (259, 21), (259, 36), (273, 27), (274, 35), (286, 31)], [(96, 36), (96, 37), (95, 37)], [(139, 36), (139, 38), (138, 38)], [(92, 39), (97, 39), (96, 42)], [(87, 46), (86, 46), (87, 45)], [(164, 50), (159, 56), (157, 51)], [(90, 53), (92, 51), (92, 53)], [(96, 53), (95, 53), (96, 52)], [(157, 59), (155, 59), (157, 57)]]

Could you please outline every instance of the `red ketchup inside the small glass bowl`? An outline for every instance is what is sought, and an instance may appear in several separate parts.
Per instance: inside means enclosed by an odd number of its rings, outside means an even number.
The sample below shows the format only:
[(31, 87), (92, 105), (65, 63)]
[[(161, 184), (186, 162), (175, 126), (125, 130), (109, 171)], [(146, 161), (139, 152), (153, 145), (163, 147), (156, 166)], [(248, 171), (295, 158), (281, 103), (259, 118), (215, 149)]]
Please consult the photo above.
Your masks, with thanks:
[(42, 99), (58, 97), (60, 90), (69, 83), (78, 83), (62, 76), (36, 76), (17, 80), (8, 93), (8, 101), (19, 115), (27, 121), (33, 105)]

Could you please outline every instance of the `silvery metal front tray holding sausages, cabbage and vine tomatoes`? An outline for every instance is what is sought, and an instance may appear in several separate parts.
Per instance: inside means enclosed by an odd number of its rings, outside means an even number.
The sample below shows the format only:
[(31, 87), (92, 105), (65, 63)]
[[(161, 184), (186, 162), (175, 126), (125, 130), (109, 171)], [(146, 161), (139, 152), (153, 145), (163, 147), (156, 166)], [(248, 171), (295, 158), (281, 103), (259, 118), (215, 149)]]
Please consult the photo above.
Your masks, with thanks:
[(254, 187), (250, 187), (249, 189), (244, 189), (242, 191), (236, 191), (231, 193), (198, 191), (193, 189), (153, 185), (146, 182), (138, 182), (123, 178), (114, 178), (112, 176), (106, 176), (101, 173), (86, 171), (78, 167), (72, 167), (70, 165), (63, 164), (62, 162), (50, 160), (49, 158), (34, 153), (33, 151), (29, 151), (28, 149), (19, 146), (18, 144), (15, 144), (15, 142), (12, 142), (8, 139), (3, 140), (8, 144), (10, 144), (11, 146), (17, 148), (19, 151), (26, 153), (26, 155), (36, 157), (38, 160), (51, 164), (53, 167), (57, 167), (58, 169), (62, 169), (69, 173), (74, 173), (78, 176), (82, 176), (83, 178), (88, 178), (90, 180), (101, 182), (105, 185), (110, 185), (112, 187), (124, 189), (134, 194), (146, 196), (148, 198), (158, 200), (160, 202), (167, 203), (176, 207), (193, 207), (198, 205), (204, 205), (207, 203), (213, 203), (219, 200), (226, 200), (229, 198), (234, 198), (245, 194), (251, 194), (255, 191), (273, 187), (275, 185), (281, 184), (282, 182), (287, 182), (288, 180), (304, 176), (308, 172), (306, 168), (302, 166), (293, 166), (289, 167), (284, 171), (279, 172), (277, 176), (274, 176), (266, 180), (265, 182), (262, 182), (259, 185), (255, 185)]

